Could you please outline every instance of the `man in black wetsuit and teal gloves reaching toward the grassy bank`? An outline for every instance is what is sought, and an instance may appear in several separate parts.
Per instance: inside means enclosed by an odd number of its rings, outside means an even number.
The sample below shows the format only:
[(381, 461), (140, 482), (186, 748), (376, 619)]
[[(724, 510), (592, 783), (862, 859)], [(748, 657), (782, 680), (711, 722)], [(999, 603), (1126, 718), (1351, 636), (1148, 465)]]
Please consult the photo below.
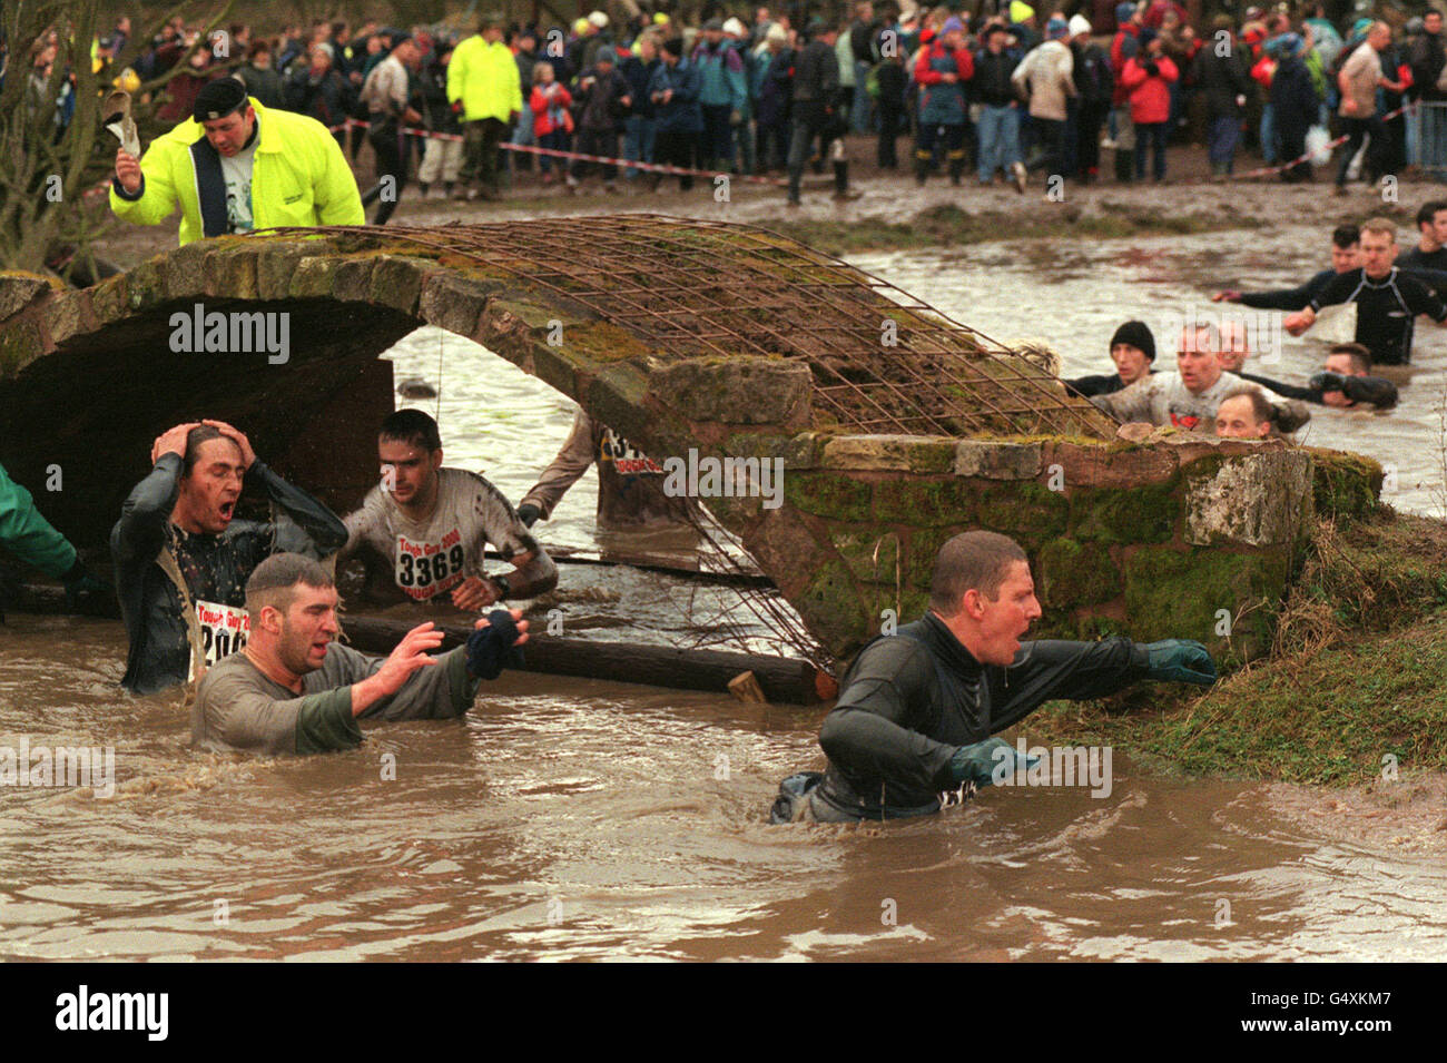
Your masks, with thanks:
[[(1104, 697), (1139, 680), (1215, 681), (1200, 642), (1022, 642), (1039, 616), (1030, 564), (1013, 539), (987, 531), (949, 539), (935, 558), (925, 619), (854, 659), (819, 730), (828, 769), (784, 780), (770, 819), (936, 813), (955, 791), (990, 785), (996, 749), (1009, 754), (990, 735), (1045, 701)], [(1006, 762), (1013, 774), (1013, 754)]]

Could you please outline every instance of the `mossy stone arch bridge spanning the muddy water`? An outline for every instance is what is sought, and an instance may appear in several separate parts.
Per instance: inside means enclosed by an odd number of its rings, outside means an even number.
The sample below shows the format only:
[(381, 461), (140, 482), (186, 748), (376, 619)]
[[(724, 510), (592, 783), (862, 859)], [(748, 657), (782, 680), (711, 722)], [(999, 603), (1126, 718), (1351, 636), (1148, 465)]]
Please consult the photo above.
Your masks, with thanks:
[[(172, 315), (197, 304), (289, 312), (287, 362), (172, 350)], [(1030, 551), (1043, 633), (1198, 638), (1247, 659), (1269, 644), (1314, 508), (1365, 512), (1380, 487), (1375, 463), (1281, 443), (1119, 440), (1039, 359), (877, 278), (761, 229), (655, 215), (275, 230), (82, 291), (7, 275), (0, 461), (103, 550), (152, 438), (216, 417), (347, 512), (392, 409), (378, 354), (423, 323), (655, 460), (781, 458), (783, 505), (706, 505), (816, 659), (916, 618), (939, 545), (981, 526)], [(45, 495), (52, 464), (64, 490)]]

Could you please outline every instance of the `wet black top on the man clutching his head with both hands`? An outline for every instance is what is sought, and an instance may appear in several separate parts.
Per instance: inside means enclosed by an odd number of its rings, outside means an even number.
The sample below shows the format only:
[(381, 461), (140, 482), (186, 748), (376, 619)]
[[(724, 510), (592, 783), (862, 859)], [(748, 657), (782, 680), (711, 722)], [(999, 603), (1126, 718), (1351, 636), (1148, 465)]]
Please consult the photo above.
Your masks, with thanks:
[[(245, 487), (260, 487), (282, 509), (275, 524), (234, 519), (220, 535), (191, 535), (171, 526), (181, 493), (181, 456), (162, 454), (155, 469), (135, 486), (110, 532), (116, 561), (116, 592), (130, 636), (122, 686), (150, 694), (185, 683), (191, 665), (181, 592), (156, 563), (166, 544), (174, 552), (192, 600), (242, 607), (246, 580), (271, 554), (292, 551), (320, 558), (341, 550), (346, 525), (300, 487), (292, 487), (260, 461), (246, 470)], [(289, 518), (289, 519), (288, 519)]]

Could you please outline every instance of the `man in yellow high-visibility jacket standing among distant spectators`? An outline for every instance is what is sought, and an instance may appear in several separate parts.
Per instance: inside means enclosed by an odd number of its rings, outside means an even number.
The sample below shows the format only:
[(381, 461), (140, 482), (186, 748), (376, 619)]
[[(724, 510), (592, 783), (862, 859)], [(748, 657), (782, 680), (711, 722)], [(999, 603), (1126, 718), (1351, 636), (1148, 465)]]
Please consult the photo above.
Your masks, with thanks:
[[(502, 43), (502, 16), (485, 16), (480, 26), (479, 33), (453, 49), (447, 64), (447, 101), (463, 121), (457, 200), (501, 195), (498, 142), (522, 113), (522, 81), (512, 49)], [(473, 181), (480, 181), (480, 188), (473, 188)]]

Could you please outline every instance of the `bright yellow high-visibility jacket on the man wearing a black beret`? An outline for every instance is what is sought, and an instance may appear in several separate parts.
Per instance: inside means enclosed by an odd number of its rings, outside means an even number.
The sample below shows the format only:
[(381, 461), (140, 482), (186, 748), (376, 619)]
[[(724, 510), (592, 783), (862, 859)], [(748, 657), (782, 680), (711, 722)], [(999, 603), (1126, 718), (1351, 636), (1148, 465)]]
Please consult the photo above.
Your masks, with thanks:
[[(304, 114), (269, 110), (255, 97), (249, 100), (260, 126), (252, 163), (256, 229), (365, 224), (357, 182), (327, 127)], [(171, 217), (179, 202), (182, 244), (221, 236), (226, 231), (226, 185), (217, 185), (218, 158), (201, 123), (187, 119), (146, 149), (140, 159), (142, 185), (135, 197), (111, 182), (110, 208), (124, 221), (155, 226)], [(208, 189), (204, 200), (203, 187)], [(221, 226), (218, 231), (217, 224)]]

